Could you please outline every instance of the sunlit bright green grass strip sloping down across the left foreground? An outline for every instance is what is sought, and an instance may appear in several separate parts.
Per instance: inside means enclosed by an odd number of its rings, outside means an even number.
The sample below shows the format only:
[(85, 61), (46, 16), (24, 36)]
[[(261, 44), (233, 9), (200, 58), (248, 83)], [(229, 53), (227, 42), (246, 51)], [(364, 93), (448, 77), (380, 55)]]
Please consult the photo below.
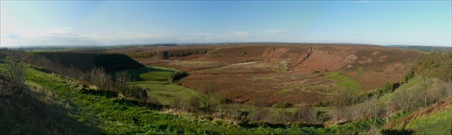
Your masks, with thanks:
[[(51, 74), (28, 69), (28, 80), (71, 104), (71, 117), (103, 133), (221, 133), (221, 130), (243, 131), (239, 128), (219, 126), (212, 121), (185, 119), (146, 109), (139, 103), (110, 97), (95, 91), (76, 91), (78, 82)], [(194, 121), (196, 120), (196, 121)], [(90, 129), (74, 130), (73, 133), (86, 133)], [(80, 131), (80, 132), (78, 132)], [(238, 133), (238, 132), (235, 132)]]

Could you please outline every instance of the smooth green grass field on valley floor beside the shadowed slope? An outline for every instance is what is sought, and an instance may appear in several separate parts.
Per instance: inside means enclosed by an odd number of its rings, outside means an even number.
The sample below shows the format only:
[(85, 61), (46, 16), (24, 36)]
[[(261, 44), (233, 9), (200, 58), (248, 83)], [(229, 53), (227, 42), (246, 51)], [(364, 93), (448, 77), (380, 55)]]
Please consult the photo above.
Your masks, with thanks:
[(169, 77), (176, 72), (176, 70), (171, 68), (142, 67), (129, 70), (129, 72), (136, 80), (132, 82), (132, 85), (148, 88), (147, 94), (166, 105), (171, 105), (174, 99), (187, 101), (198, 94), (198, 92), (190, 88), (170, 82)]

